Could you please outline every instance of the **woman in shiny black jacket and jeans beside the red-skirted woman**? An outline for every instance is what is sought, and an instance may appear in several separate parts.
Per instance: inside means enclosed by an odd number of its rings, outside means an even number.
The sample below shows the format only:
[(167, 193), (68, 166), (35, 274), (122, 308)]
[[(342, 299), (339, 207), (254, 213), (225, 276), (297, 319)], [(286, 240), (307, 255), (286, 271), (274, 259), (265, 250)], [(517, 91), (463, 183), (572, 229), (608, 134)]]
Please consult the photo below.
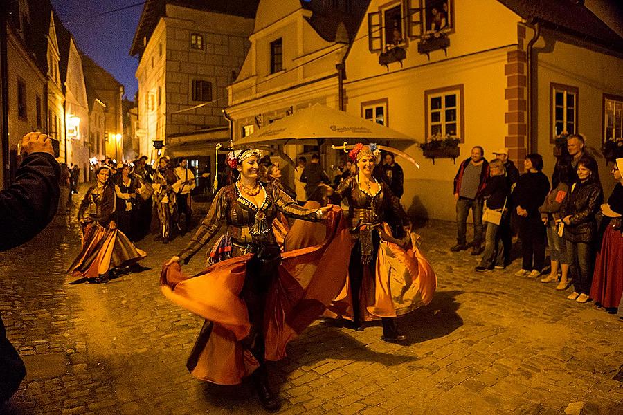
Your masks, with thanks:
[(604, 196), (594, 158), (581, 158), (576, 172), (577, 181), (563, 200), (561, 217), (573, 280), (573, 293), (567, 298), (585, 303), (593, 278), (593, 243), (597, 237), (595, 215)]

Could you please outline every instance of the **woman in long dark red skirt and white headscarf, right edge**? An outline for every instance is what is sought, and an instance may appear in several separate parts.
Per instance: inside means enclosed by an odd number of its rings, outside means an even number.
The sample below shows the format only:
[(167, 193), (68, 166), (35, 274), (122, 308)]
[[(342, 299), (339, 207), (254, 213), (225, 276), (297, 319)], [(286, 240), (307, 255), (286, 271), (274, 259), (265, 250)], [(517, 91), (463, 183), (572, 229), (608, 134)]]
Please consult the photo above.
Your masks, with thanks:
[(606, 308), (616, 311), (623, 294), (623, 158), (617, 158), (612, 174), (617, 181), (608, 203), (602, 205), (604, 230), (602, 243), (595, 259), (593, 285), (590, 298)]

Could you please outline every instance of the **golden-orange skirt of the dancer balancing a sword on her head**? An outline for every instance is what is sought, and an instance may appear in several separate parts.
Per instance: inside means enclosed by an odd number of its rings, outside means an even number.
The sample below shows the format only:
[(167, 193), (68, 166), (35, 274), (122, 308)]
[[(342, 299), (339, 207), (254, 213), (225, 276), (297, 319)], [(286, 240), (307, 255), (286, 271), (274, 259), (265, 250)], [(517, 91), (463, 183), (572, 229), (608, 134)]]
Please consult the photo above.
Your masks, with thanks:
[[(391, 235), (385, 223), (384, 230)], [(419, 237), (411, 234), (411, 246), (404, 250), (396, 243), (379, 243), (375, 275), (370, 268), (363, 268), (363, 282), (359, 291), (360, 314), (364, 320), (381, 317), (397, 317), (425, 306), (433, 300), (437, 288), (437, 276), (422, 251), (417, 247)], [(329, 306), (325, 316), (353, 318), (352, 294), (346, 279), (341, 292)]]

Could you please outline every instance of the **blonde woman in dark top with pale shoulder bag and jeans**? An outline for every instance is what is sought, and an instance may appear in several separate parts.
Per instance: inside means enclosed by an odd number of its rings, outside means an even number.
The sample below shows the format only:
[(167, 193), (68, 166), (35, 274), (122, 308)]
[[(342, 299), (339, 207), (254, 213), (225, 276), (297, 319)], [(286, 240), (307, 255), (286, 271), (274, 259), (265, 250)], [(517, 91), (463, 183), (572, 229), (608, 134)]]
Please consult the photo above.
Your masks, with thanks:
[[(487, 222), (487, 230), (485, 231), (485, 252), (482, 254), (480, 265), (476, 267), (478, 273), (484, 273), (492, 270), (496, 263), (504, 264), (502, 259), (504, 250), (499, 249), (500, 243), (500, 227), (508, 222), (508, 196), (509, 188), (506, 180), (506, 170), (501, 160), (491, 160), (489, 163), (489, 178), (485, 189), (482, 190), (482, 198), (485, 199), (487, 209), (502, 212), (502, 219), (499, 224)], [(508, 225), (510, 225), (508, 223)], [(500, 259), (498, 261), (498, 256)]]

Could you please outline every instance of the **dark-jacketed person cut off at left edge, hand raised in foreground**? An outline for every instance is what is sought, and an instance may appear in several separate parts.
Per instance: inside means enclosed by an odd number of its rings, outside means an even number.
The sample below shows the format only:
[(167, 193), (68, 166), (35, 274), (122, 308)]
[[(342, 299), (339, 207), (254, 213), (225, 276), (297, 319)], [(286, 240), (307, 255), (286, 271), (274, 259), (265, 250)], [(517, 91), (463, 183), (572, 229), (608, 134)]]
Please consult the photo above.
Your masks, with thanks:
[[(25, 157), (15, 183), (0, 191), (2, 251), (29, 241), (43, 230), (53, 219), (60, 196), (60, 165), (54, 159), (50, 138), (28, 133), (22, 138), (22, 153)], [(24, 376), (24, 362), (6, 338), (0, 318), (0, 403), (15, 393)]]

